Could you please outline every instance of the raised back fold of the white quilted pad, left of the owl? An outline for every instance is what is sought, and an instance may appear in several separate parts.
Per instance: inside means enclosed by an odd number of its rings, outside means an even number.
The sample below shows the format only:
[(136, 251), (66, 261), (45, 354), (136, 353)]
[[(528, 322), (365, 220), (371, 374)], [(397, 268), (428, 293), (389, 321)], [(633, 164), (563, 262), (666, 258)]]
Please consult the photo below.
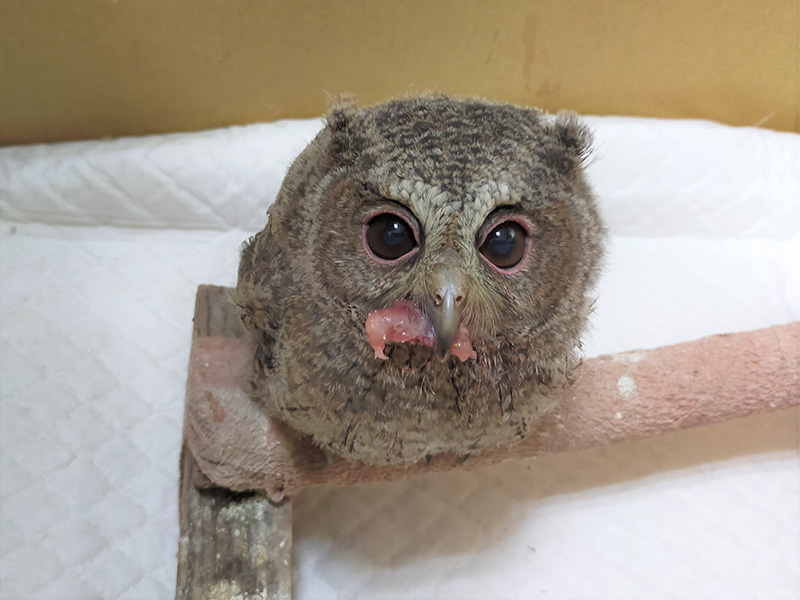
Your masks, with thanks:
[[(319, 120), (0, 148), (0, 215), (21, 223), (257, 231)], [(21, 201), (24, 198), (24, 201)]]

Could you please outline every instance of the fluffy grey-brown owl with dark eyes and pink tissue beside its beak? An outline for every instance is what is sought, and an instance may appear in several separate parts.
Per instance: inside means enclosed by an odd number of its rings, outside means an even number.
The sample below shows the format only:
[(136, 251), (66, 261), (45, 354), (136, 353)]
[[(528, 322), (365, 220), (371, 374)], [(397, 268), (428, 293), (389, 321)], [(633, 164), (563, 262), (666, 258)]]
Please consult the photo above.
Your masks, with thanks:
[(474, 99), (335, 106), (242, 251), (254, 399), (370, 464), (535, 430), (602, 262), (590, 143), (573, 115)]

